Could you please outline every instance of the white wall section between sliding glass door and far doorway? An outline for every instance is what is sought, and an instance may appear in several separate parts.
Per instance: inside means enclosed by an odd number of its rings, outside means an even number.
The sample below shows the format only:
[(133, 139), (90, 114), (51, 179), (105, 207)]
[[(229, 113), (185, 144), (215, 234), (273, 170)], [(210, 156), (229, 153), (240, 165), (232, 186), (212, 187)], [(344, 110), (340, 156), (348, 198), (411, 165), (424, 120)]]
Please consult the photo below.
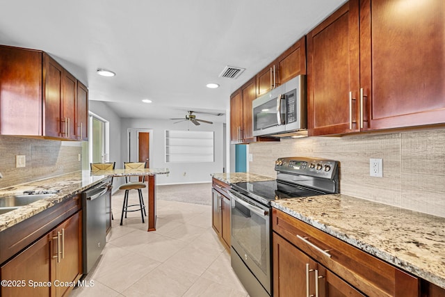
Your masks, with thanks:
[[(122, 120), (119, 116), (110, 109), (106, 103), (100, 101), (90, 100), (88, 102), (89, 110), (101, 118), (110, 122), (110, 161), (116, 162), (116, 168), (123, 168), (124, 154), (122, 154), (122, 141), (126, 142), (127, 138), (121, 134)], [(120, 184), (123, 184), (123, 178), (115, 178), (113, 181), (114, 188), (118, 188)]]

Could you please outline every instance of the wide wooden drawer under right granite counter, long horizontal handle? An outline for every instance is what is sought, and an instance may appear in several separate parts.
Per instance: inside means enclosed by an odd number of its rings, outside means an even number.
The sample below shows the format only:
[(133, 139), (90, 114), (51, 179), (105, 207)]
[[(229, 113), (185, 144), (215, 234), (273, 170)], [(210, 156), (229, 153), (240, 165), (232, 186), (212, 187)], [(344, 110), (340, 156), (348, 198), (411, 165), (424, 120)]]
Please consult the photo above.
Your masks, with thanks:
[[(274, 232), (283, 236), (364, 294), (369, 296), (419, 296), (420, 282), (418, 278), (301, 220), (284, 214), (282, 211), (273, 209), (272, 216)], [(327, 254), (323, 251), (326, 251)]]

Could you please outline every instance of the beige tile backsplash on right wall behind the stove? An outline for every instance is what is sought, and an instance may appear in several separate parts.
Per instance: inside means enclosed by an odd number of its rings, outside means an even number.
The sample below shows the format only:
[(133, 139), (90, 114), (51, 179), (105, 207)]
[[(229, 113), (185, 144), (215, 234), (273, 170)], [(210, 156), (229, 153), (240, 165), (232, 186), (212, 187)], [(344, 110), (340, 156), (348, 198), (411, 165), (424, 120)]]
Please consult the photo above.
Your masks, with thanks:
[[(445, 217), (445, 129), (282, 139), (249, 152), (249, 171), (271, 177), (278, 157), (338, 160), (341, 193)], [(369, 176), (370, 158), (383, 159), (382, 178)]]

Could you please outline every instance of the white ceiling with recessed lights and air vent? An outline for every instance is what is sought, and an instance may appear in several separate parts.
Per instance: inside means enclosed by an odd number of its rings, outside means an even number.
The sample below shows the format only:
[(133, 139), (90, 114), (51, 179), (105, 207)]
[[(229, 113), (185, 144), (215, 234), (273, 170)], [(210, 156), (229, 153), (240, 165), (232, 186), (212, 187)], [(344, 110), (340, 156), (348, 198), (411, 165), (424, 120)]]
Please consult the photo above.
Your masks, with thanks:
[[(122, 118), (180, 118), (226, 112), (234, 90), (344, 2), (0, 0), (0, 44), (47, 51)], [(246, 70), (218, 77), (226, 65)]]

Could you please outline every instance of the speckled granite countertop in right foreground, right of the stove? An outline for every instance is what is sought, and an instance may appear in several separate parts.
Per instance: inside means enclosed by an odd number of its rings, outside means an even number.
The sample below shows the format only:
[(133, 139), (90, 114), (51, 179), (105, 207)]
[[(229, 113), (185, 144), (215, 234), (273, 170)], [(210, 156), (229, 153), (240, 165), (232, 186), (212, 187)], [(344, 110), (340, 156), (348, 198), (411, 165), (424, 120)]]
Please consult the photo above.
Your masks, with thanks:
[(342, 194), (272, 205), (445, 289), (445, 218)]

